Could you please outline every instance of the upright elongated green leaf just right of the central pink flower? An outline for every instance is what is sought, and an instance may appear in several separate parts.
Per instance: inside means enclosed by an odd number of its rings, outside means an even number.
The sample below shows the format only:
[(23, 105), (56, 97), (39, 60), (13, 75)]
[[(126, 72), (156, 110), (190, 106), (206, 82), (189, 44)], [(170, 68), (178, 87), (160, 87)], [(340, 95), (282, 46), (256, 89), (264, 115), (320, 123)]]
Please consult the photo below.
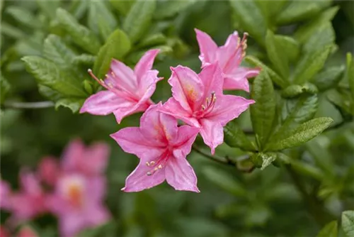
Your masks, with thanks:
[(273, 83), (266, 72), (261, 72), (254, 79), (251, 98), (256, 101), (251, 105), (253, 131), (256, 133), (259, 148), (263, 148), (273, 129), (276, 105)]

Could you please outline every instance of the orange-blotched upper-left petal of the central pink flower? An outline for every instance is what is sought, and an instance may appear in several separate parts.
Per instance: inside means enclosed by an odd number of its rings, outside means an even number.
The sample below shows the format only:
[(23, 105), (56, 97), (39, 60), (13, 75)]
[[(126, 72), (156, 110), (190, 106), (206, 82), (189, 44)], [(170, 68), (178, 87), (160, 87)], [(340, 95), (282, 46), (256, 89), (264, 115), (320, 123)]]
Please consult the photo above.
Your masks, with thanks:
[(173, 98), (185, 111), (195, 111), (200, 106), (200, 99), (204, 95), (204, 87), (200, 78), (193, 70), (181, 65), (171, 67), (171, 71), (169, 84), (172, 87)]

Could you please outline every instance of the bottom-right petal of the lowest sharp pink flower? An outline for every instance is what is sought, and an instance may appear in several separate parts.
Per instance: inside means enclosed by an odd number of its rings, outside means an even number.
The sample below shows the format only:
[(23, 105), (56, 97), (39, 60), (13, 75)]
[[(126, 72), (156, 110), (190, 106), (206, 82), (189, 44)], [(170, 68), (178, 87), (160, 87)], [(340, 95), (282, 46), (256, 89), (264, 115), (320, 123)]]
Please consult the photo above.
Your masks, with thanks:
[(165, 168), (166, 181), (176, 190), (200, 192), (197, 187), (197, 176), (184, 157), (169, 158)]

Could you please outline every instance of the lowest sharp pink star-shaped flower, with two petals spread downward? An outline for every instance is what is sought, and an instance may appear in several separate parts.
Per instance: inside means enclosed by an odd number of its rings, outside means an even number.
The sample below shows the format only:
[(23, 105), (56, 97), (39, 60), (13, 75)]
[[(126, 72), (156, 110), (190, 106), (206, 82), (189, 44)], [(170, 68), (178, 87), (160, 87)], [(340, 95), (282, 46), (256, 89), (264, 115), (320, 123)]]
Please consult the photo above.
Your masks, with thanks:
[(176, 119), (159, 113), (159, 109), (161, 103), (150, 106), (139, 128), (123, 128), (111, 135), (122, 150), (140, 158), (122, 190), (139, 192), (166, 180), (176, 190), (199, 192), (197, 177), (185, 158), (199, 129), (177, 127)]

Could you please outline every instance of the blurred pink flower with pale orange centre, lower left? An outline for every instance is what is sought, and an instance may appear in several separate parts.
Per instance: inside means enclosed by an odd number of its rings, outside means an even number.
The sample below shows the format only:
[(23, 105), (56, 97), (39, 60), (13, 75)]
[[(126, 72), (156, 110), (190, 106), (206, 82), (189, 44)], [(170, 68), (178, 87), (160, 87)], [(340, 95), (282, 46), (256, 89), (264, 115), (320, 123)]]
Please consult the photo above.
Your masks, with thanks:
[(62, 237), (74, 237), (84, 228), (104, 224), (110, 218), (103, 205), (105, 179), (80, 173), (61, 175), (47, 206), (59, 218)]

